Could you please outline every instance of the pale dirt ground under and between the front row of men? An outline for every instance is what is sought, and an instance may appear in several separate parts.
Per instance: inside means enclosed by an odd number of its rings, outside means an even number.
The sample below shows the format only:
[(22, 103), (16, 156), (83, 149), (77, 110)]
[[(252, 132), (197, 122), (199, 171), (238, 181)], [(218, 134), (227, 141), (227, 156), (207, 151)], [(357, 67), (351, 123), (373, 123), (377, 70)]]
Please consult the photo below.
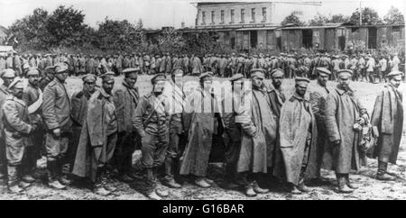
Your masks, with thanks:
[[(149, 76), (141, 76), (138, 79), (137, 86), (141, 95), (148, 93), (151, 90)], [(117, 78), (118, 83), (122, 78)], [(196, 79), (188, 77), (187, 80)], [(269, 81), (267, 81), (269, 82)], [(312, 81), (314, 83), (315, 81)], [(78, 91), (81, 88), (81, 81), (79, 78), (69, 78), (68, 80), (69, 94)], [(311, 85), (310, 85), (311, 86)], [(330, 83), (329, 86), (335, 86)], [(374, 106), (374, 99), (376, 93), (383, 85), (373, 85), (355, 82), (352, 84), (361, 96), (361, 101), (371, 114)], [(292, 80), (285, 80), (283, 88), (288, 90), (287, 95), (291, 92), (293, 87)], [(401, 88), (404, 89), (404, 84)], [(390, 182), (382, 182), (374, 179), (377, 168), (376, 160), (368, 159), (368, 165), (363, 167), (358, 173), (352, 174), (350, 177), (360, 187), (355, 190), (353, 194), (337, 194), (334, 186), (311, 186), (312, 191), (303, 195), (291, 195), (283, 192), (281, 186), (275, 183), (270, 184), (271, 192), (265, 195), (258, 195), (254, 198), (246, 197), (241, 190), (226, 190), (221, 187), (222, 175), (224, 168), (220, 163), (212, 163), (209, 167), (209, 176), (214, 179), (216, 184), (209, 188), (200, 188), (193, 186), (190, 182), (186, 182), (180, 189), (168, 189), (169, 197), (166, 199), (181, 200), (181, 199), (406, 199), (406, 122), (403, 127), (403, 137), (401, 141), (401, 151), (399, 153), (398, 165), (389, 166), (389, 171), (398, 175), (398, 179)], [(134, 163), (140, 157), (140, 151), (134, 152)], [(45, 168), (45, 159), (40, 159), (38, 162), (38, 174), (43, 176)], [(322, 176), (327, 177), (333, 184), (335, 182), (334, 173), (331, 171), (322, 171)], [(93, 194), (90, 189), (83, 186), (69, 186), (66, 190), (56, 191), (44, 185), (41, 178), (21, 195), (10, 195), (7, 193), (5, 186), (0, 186), (0, 199), (147, 199), (142, 194), (143, 182), (135, 181), (133, 184), (125, 184), (119, 182), (115, 177), (108, 178), (109, 183), (118, 188), (115, 195), (101, 196)], [(159, 185), (161, 188), (165, 186)]]

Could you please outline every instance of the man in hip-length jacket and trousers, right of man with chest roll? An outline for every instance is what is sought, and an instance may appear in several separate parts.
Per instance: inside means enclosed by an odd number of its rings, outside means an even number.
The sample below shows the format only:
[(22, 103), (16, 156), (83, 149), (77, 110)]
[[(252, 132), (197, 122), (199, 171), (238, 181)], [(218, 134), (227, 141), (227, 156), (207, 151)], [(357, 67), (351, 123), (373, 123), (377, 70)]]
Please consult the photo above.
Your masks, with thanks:
[[(65, 86), (68, 65), (59, 63), (55, 67), (55, 78), (43, 91), (42, 117), (46, 124), (45, 147), (47, 150), (48, 185), (63, 189), (70, 181), (62, 177), (62, 167), (68, 152), (72, 120), (70, 100)], [(62, 183), (62, 184), (61, 184)]]

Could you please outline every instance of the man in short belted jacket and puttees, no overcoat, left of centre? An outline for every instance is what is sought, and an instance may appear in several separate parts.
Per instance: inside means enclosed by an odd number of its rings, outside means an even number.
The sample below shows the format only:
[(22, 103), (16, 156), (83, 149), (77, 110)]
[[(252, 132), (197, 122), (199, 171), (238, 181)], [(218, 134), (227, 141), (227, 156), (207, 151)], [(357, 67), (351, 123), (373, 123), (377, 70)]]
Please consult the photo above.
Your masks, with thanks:
[(152, 93), (140, 98), (132, 119), (134, 129), (142, 138), (141, 161), (146, 171), (146, 195), (152, 199), (168, 195), (156, 188), (156, 171), (165, 160), (169, 141), (169, 114), (162, 95), (165, 80), (163, 74), (152, 77)]

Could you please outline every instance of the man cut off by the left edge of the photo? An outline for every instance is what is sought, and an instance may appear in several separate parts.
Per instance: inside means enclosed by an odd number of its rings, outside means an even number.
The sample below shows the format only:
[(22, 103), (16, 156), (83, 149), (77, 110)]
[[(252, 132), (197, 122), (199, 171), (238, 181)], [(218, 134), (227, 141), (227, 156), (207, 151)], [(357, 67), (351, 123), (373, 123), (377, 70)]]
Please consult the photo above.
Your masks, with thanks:
[(14, 81), (15, 72), (11, 68), (4, 69), (0, 72), (3, 84), (0, 86), (0, 185), (5, 184), (7, 179), (7, 159), (5, 157), (5, 132), (3, 123), (3, 111), (1, 107), (5, 104), (8, 95), (11, 95), (8, 86)]

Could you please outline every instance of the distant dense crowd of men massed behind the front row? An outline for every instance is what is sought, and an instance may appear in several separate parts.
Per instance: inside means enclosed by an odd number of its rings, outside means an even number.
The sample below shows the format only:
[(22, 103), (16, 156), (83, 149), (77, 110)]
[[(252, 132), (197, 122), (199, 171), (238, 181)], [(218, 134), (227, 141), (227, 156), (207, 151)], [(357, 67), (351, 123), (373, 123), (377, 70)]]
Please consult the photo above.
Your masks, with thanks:
[[(4, 56), (4, 55), (3, 55)], [(203, 72), (211, 71), (217, 77), (232, 77), (241, 73), (249, 77), (253, 68), (263, 68), (265, 77), (270, 78), (273, 69), (281, 68), (285, 77), (316, 78), (316, 68), (328, 68), (332, 72), (329, 77), (337, 80), (337, 71), (351, 69), (354, 72), (353, 80), (365, 82), (384, 82), (385, 76), (400, 70), (404, 72), (404, 59), (398, 53), (380, 52), (367, 54), (353, 53), (280, 53), (279, 56), (269, 54), (207, 54), (198, 57), (194, 54), (116, 54), (116, 55), (84, 55), (84, 54), (23, 54), (10, 52), (5, 57), (0, 55), (0, 70), (14, 68), (18, 76), (24, 76), (28, 68), (43, 70), (60, 62), (69, 64), (69, 75), (102, 75), (107, 71), (115, 75), (123, 74), (125, 68), (139, 68), (142, 74), (170, 74), (173, 68), (182, 68), (185, 75), (198, 76)]]

